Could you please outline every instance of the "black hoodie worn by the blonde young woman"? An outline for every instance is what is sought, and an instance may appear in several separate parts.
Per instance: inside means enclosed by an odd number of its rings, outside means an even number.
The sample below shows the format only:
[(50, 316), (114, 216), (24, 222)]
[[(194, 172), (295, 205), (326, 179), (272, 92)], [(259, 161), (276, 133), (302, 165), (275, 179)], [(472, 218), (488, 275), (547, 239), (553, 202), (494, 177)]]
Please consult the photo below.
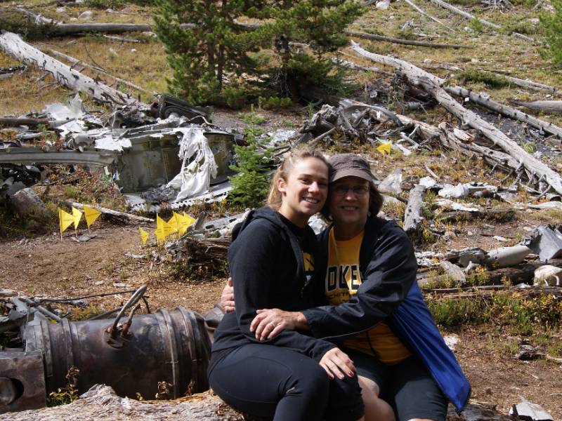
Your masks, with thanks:
[(287, 347), (320, 361), (334, 344), (293, 330), (259, 342), (249, 329), (257, 309), (298, 312), (315, 305), (313, 269), (307, 262), (305, 270), (303, 261), (303, 251), (313, 257), (318, 248), (312, 229), (296, 227), (266, 207), (250, 213), (233, 238), (228, 263), (236, 280), (236, 312), (227, 313), (214, 333), (211, 368), (226, 350), (251, 343)]

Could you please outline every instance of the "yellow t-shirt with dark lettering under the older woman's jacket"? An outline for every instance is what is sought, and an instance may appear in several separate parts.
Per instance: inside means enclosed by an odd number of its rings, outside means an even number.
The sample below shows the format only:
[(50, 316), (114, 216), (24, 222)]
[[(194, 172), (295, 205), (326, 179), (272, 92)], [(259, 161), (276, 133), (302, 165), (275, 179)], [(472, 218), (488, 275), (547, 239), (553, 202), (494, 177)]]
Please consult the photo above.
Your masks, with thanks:
[[(362, 240), (363, 232), (351, 240), (336, 241), (334, 229), (330, 229), (325, 291), (331, 305), (347, 302), (357, 293), (362, 283), (359, 270)], [(399, 363), (412, 355), (386, 323), (379, 323), (364, 333), (344, 340), (343, 345), (365, 354), (376, 355), (386, 364)]]

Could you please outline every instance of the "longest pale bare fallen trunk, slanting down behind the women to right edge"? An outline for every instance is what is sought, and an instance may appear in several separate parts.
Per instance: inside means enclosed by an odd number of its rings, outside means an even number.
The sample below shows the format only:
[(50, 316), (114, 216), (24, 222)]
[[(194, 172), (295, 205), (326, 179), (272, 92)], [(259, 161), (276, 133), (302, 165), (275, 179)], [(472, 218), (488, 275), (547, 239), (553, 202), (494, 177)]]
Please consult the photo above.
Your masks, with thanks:
[[(352, 48), (356, 53), (362, 55), (363, 57), (367, 57), (375, 62), (381, 62), (385, 65), (402, 70), (412, 83), (421, 84), (426, 91), (436, 98), (440, 105), (443, 105), (443, 107), (457, 116), (457, 118), (459, 118), (463, 123), (467, 124), (471, 128), (476, 128), (481, 131), (486, 138), (491, 140), (495, 145), (501, 147), (504, 152), (507, 152), (513, 156), (514, 159), (520, 161), (531, 174), (538, 175), (540, 179), (544, 179), (556, 192), (562, 194), (562, 178), (558, 173), (556, 173), (556, 171), (553, 171), (542, 161), (530, 156), (530, 154), (525, 152), (522, 147), (517, 145), (514, 140), (511, 140), (498, 128), (492, 126), (492, 124), (488, 123), (488, 121), (481, 119), (481, 117), (476, 115), (474, 112), (464, 108), (459, 104), (459, 102), (455, 101), (447, 92), (445, 92), (445, 89), (440, 86), (443, 83), (442, 79), (403, 60), (370, 53), (353, 41)], [(462, 91), (463, 88), (459, 89)]]

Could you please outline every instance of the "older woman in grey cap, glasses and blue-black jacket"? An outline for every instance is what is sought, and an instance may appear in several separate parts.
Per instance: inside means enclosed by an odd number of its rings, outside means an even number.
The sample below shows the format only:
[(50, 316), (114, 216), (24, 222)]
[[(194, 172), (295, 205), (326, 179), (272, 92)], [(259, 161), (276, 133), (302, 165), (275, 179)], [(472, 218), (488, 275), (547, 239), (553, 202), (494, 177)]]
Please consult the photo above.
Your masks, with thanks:
[(341, 154), (329, 163), (323, 213), (333, 225), (320, 234), (317, 265), (330, 305), (259, 309), (250, 328), (259, 340), (289, 329), (339, 342), (357, 368), (367, 421), (445, 420), (447, 399), (462, 410), (470, 385), (423, 301), (412, 244), (394, 222), (377, 218), (382, 198), (367, 161)]

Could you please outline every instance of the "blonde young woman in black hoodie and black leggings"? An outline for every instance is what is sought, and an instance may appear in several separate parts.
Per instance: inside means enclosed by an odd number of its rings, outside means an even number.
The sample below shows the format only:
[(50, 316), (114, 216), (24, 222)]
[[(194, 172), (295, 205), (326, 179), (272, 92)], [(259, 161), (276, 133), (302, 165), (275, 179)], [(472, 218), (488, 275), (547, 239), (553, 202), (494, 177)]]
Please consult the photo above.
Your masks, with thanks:
[(360, 387), (350, 359), (331, 342), (285, 330), (258, 340), (256, 310), (313, 305), (318, 244), (308, 218), (324, 206), (328, 166), (319, 152), (293, 152), (277, 169), (269, 207), (251, 213), (228, 250), (236, 312), (214, 333), (209, 383), (233, 407), (281, 421), (360, 420)]

